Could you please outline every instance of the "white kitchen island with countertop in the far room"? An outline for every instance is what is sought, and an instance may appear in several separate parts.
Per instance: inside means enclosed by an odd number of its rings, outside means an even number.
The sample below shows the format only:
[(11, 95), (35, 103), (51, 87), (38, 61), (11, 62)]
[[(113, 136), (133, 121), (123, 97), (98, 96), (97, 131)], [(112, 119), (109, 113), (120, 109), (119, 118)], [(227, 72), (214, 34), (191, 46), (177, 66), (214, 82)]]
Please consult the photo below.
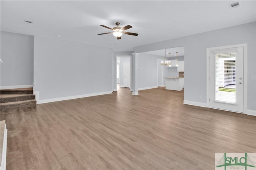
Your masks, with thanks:
[(181, 91), (184, 87), (184, 77), (164, 77), (166, 90)]

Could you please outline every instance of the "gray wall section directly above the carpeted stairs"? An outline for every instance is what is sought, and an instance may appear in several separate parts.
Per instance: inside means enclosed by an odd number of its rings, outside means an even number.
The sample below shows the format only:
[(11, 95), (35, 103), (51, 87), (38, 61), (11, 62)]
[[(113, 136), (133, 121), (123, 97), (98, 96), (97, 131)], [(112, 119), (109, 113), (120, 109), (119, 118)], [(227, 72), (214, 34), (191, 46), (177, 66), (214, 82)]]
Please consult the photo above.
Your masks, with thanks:
[(33, 84), (33, 36), (1, 31), (1, 59), (1, 86)]

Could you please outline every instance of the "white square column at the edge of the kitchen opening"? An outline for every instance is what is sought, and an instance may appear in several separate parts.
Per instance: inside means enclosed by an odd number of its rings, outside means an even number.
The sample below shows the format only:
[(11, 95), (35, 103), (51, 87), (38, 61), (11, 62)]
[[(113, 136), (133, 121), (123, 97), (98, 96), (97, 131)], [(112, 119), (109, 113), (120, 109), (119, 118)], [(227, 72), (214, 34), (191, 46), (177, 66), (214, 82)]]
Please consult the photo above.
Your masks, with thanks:
[(132, 53), (132, 95), (138, 95), (138, 58), (139, 53)]

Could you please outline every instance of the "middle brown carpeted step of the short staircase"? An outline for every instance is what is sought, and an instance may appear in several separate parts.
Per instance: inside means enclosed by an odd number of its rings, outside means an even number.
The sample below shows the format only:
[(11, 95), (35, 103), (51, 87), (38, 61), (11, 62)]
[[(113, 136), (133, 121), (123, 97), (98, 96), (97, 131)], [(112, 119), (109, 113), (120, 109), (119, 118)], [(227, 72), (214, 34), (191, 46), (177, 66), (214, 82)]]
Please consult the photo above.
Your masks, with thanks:
[(1, 94), (0, 103), (33, 100), (35, 98), (36, 98), (36, 95), (34, 94)]

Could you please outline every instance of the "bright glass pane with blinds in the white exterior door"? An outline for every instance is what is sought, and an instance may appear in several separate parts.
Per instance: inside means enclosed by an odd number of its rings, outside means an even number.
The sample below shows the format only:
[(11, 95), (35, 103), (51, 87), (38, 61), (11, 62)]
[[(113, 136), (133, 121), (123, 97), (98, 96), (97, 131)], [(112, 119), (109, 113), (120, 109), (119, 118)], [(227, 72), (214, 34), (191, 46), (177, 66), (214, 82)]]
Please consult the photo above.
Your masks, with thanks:
[(236, 53), (215, 54), (215, 101), (236, 104)]

